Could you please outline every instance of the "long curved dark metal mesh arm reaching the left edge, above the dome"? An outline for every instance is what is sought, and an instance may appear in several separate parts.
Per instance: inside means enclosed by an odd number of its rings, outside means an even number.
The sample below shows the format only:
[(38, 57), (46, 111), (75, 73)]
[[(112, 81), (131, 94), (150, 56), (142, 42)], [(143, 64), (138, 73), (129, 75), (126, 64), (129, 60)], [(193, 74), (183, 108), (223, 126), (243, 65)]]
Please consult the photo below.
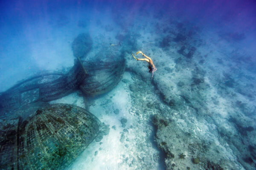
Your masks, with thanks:
[(33, 102), (49, 102), (72, 93), (85, 78), (84, 70), (76, 64), (66, 74), (40, 74), (17, 83), (0, 93), (0, 117)]

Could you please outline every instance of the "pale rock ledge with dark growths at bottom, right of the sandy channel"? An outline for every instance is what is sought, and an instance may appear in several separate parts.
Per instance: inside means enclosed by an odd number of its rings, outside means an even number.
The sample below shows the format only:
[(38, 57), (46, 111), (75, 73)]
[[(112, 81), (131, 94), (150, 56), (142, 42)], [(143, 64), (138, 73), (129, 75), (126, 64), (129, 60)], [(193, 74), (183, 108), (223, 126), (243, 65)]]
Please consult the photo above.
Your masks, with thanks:
[(214, 142), (198, 139), (194, 134), (183, 131), (175, 121), (155, 115), (152, 122), (157, 128), (155, 142), (164, 152), (166, 170), (184, 167), (207, 170), (238, 168), (232, 161), (225, 159), (224, 153), (221, 153), (221, 147), (216, 146)]

